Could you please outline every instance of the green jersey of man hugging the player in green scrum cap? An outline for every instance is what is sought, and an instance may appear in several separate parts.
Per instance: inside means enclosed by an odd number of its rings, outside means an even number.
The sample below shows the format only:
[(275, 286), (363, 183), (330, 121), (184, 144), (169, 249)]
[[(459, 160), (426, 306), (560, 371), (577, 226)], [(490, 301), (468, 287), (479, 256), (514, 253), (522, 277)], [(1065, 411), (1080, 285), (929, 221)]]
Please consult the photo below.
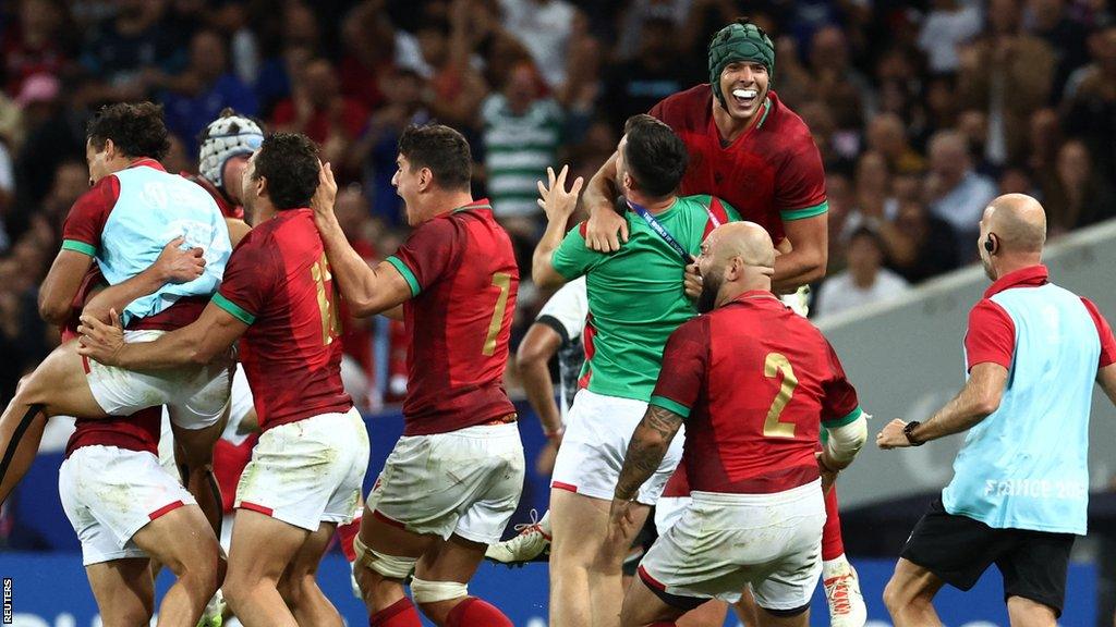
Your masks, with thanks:
[[(619, 251), (586, 248), (583, 222), (566, 234), (551, 262), (568, 280), (586, 277), (589, 317), (581, 385), (597, 394), (650, 401), (666, 338), (698, 310), (683, 289), (682, 257), (638, 214), (628, 211), (625, 219), (629, 238)], [(718, 223), (735, 222), (740, 215), (718, 199), (696, 195), (679, 197), (655, 219), (698, 257)]]

